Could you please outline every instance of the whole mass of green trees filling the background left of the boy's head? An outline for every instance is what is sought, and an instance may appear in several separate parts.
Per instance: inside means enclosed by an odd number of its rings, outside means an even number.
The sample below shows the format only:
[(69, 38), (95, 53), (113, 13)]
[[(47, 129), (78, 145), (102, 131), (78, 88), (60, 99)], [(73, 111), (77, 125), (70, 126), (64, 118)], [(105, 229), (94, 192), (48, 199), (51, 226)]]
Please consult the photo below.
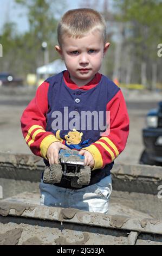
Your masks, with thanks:
[[(42, 42), (48, 44), (49, 61), (56, 58), (57, 19), (62, 14), (65, 1), (59, 0), (15, 0), (27, 10), (29, 31), (20, 34), (15, 23), (5, 23), (1, 33), (3, 58), (0, 59), (1, 71), (11, 71), (24, 78), (29, 72), (44, 64)], [(15, 6), (15, 8), (16, 8)]]

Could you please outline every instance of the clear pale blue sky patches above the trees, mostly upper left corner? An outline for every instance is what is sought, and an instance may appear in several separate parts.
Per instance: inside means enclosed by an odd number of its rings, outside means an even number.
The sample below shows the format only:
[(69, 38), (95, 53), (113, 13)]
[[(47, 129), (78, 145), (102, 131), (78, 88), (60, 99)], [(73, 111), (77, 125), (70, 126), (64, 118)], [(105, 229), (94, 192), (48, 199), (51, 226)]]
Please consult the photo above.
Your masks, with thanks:
[[(75, 9), (79, 7), (80, 0), (66, 0), (68, 8)], [(21, 7), (15, 8), (14, 0), (0, 0), (0, 34), (4, 22), (14, 21), (18, 25), (18, 31), (24, 32), (28, 30), (27, 15), (25, 9)]]

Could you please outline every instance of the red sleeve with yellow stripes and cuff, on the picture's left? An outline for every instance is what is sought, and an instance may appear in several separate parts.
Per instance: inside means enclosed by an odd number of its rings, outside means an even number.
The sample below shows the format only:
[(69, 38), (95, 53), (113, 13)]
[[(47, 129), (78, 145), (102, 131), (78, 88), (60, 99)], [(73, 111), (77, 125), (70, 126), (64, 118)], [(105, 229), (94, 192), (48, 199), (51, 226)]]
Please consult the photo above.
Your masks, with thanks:
[(46, 131), (48, 88), (47, 82), (38, 87), (34, 99), (25, 108), (21, 117), (22, 133), (26, 143), (35, 155), (45, 159), (49, 145), (59, 141), (52, 132)]

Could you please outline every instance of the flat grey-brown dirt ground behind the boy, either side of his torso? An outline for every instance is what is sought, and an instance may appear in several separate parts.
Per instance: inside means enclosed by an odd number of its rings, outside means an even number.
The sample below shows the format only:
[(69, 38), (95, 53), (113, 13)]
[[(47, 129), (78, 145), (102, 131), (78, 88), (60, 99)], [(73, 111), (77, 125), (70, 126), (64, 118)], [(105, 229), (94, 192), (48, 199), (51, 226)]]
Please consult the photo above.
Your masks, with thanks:
[[(25, 89), (21, 90), (19, 94), (17, 91), (16, 89), (9, 90), (9, 92), (0, 90), (0, 151), (30, 154), (30, 149), (22, 136), (20, 118), (25, 106), (34, 96), (34, 92), (28, 91), (28, 94), (25, 95)], [(141, 130), (146, 125), (146, 113), (157, 105), (161, 95), (153, 96), (147, 92), (141, 97), (141, 92), (134, 91), (124, 91), (124, 95), (130, 118), (130, 132), (126, 149), (115, 162), (135, 164), (138, 163), (144, 149)]]

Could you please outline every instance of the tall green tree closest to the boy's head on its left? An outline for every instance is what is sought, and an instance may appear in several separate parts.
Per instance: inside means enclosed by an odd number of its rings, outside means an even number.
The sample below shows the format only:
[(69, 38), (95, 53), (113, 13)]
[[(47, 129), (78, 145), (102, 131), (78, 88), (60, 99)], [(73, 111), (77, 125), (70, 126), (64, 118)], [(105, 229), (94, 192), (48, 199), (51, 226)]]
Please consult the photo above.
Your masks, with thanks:
[[(30, 64), (30, 72), (43, 64), (42, 42), (48, 44), (50, 61), (56, 58), (56, 18), (61, 15), (65, 2), (59, 0), (16, 0), (27, 9), (29, 32), (24, 35), (25, 59)], [(33, 64), (33, 65), (31, 65)]]

